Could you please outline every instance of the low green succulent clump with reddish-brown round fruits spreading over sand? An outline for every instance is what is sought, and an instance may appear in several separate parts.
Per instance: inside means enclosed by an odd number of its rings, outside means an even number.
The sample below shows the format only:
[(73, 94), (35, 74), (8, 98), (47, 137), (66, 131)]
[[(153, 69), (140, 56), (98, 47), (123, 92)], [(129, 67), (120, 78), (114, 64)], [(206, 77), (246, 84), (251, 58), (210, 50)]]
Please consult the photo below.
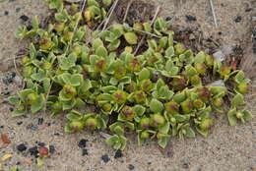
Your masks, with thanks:
[[(174, 42), (163, 19), (136, 23), (135, 29), (113, 24), (94, 30), (110, 0), (88, 0), (83, 15), (76, 4), (68, 12), (61, 0), (47, 2), (54, 20), (46, 29), (33, 18), (31, 29), (17, 31), (31, 45), (21, 61), (26, 88), (9, 97), (17, 109), (13, 116), (48, 110), (67, 117), (67, 133), (108, 130), (113, 136), (106, 143), (115, 149), (125, 148), (127, 132), (137, 133), (139, 144), (157, 139), (161, 147), (176, 136), (194, 138), (195, 131), (206, 137), (214, 125), (212, 111), (224, 113), (225, 99), (231, 126), (252, 119), (243, 109), (249, 83), (244, 73)], [(148, 48), (136, 55), (143, 36)], [(228, 88), (206, 85), (206, 76), (224, 80)], [(95, 113), (84, 112), (89, 104)]]

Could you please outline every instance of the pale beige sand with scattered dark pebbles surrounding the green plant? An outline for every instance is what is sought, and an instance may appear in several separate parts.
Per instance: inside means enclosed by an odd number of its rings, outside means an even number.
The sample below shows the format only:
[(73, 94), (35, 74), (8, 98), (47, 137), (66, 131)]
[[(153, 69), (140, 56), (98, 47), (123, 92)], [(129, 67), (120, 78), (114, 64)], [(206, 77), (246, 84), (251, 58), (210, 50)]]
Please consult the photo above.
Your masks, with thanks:
[[(210, 4), (207, 0), (183, 0), (183, 5), (176, 6), (171, 0), (156, 0), (161, 6), (160, 16), (173, 17), (174, 24), (184, 27), (198, 26), (203, 30), (204, 37), (213, 36), (223, 44), (248, 46), (250, 42), (250, 15), (255, 11), (248, 10), (249, 0), (216, 0), (219, 28), (213, 23)], [(4, 102), (8, 93), (15, 94), (19, 89), (17, 77), (14, 83), (6, 85), (2, 82), (10, 72), (14, 72), (12, 58), (21, 47), (27, 44), (19, 42), (14, 37), (14, 31), (21, 25), (20, 17), (26, 15), (45, 16), (47, 7), (41, 0), (0, 0), (0, 134), (6, 134), (11, 140), (8, 146), (0, 147), (0, 157), (6, 153), (13, 154), (7, 161), (1, 161), (3, 170), (18, 165), (20, 171), (253, 171), (256, 170), (256, 120), (245, 125), (230, 127), (224, 115), (215, 115), (216, 125), (213, 133), (207, 139), (198, 136), (195, 140), (179, 141), (173, 139), (162, 150), (156, 142), (147, 142), (138, 146), (135, 136), (130, 135), (127, 148), (122, 156), (115, 158), (115, 151), (106, 146), (98, 134), (80, 133), (67, 135), (63, 132), (64, 119), (49, 118), (41, 114), (27, 115), (27, 117), (10, 117), (10, 108)], [(195, 16), (197, 21), (187, 22), (185, 16)], [(239, 23), (234, 20), (241, 17)], [(222, 32), (222, 33), (220, 33)], [(252, 55), (250, 53), (245, 54)], [(254, 54), (255, 55), (255, 54)], [(8, 71), (7, 67), (9, 66)], [(2, 72), (3, 71), (3, 72)], [(252, 85), (256, 85), (253, 81)], [(255, 87), (251, 93), (255, 93)], [(254, 113), (254, 98), (247, 97), (249, 107)], [(43, 122), (41, 123), (41, 119)], [(82, 139), (87, 140), (85, 147), (78, 146)], [(29, 150), (19, 152), (17, 145), (26, 143), (28, 148), (37, 142), (54, 145), (56, 151), (45, 160), (44, 166), (37, 167), (34, 157)], [(87, 149), (88, 154), (83, 154)], [(101, 157), (107, 155), (109, 161), (104, 162)], [(25, 160), (31, 159), (29, 164)], [(106, 157), (107, 158), (107, 157)], [(1, 169), (0, 169), (1, 170)]]

